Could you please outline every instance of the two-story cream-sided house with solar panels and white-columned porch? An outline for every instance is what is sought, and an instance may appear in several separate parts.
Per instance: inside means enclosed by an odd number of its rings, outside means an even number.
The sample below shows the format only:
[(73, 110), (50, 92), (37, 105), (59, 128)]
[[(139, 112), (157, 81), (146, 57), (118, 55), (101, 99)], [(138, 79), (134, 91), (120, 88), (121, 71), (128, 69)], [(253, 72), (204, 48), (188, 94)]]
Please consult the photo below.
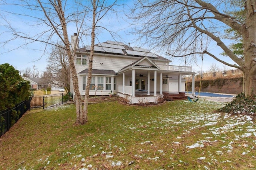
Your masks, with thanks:
[[(71, 36), (73, 47), (75, 39), (76, 34)], [(90, 46), (78, 48), (75, 55), (81, 94), (85, 94), (89, 55)], [(190, 66), (172, 66), (170, 62), (148, 49), (130, 47), (130, 43), (98, 43), (94, 47), (90, 95), (108, 95), (112, 91), (131, 103), (138, 103), (142, 100), (156, 102), (163, 97), (163, 92), (184, 92), (182, 76), (192, 75), (194, 82), (196, 73)], [(170, 79), (172, 76), (177, 78), (175, 87), (170, 85), (174, 81)], [(72, 78), (70, 84), (70, 91), (73, 92)]]

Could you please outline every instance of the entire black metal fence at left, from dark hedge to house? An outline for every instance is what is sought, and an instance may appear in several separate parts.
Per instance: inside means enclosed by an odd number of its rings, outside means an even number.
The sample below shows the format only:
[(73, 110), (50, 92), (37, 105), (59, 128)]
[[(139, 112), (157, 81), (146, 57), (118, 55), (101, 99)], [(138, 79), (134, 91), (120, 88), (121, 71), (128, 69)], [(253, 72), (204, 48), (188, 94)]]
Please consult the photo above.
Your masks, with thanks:
[(0, 137), (12, 127), (29, 109), (44, 109), (65, 104), (73, 99), (73, 93), (53, 94), (47, 96), (32, 96), (16, 104), (12, 109), (0, 111)]

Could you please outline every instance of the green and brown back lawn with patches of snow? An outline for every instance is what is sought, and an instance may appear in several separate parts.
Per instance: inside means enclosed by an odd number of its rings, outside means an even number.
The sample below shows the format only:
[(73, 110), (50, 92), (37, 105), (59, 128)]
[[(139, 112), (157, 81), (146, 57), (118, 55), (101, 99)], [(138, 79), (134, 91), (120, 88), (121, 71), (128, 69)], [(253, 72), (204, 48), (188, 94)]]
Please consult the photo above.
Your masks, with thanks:
[(74, 105), (26, 113), (0, 138), (2, 169), (240, 169), (256, 167), (255, 121), (200, 99), (134, 107), (89, 105), (75, 125)]

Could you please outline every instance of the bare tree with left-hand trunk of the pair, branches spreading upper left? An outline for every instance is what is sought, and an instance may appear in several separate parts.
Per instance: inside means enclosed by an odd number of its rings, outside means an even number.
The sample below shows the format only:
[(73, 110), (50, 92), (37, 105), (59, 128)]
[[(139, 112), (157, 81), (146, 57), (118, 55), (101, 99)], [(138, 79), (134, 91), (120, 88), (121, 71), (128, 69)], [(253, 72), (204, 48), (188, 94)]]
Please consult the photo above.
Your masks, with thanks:
[[(95, 1), (95, 0), (94, 0)], [(74, 64), (74, 55), (76, 52), (76, 49), (78, 47), (78, 43), (82, 43), (82, 39), (87, 39), (87, 32), (89, 30), (92, 30), (92, 28), (87, 25), (90, 25), (89, 23), (92, 23), (92, 25), (96, 25), (96, 21), (102, 20), (106, 12), (110, 10), (110, 8), (113, 6), (113, 4), (110, 4), (106, 1), (100, 1), (96, 0), (95, 2), (90, 1), (69, 1), (69, 0), (37, 0), (37, 1), (30, 1), (30, 0), (24, 0), (24, 1), (14, 1), (13, 3), (10, 1), (1, 1), (0, 5), (11, 5), (11, 6), (19, 6), (19, 11), (16, 11), (16, 13), (8, 11), (4, 11), (2, 15), (1, 12), (1, 18), (6, 22), (6, 29), (9, 29), (9, 31), (13, 34), (13, 38), (9, 41), (4, 42), (4, 45), (6, 43), (9, 43), (13, 39), (16, 38), (23, 38), (29, 41), (28, 43), (24, 45), (28, 45), (29, 43), (34, 42), (41, 42), (46, 44), (45, 49), (47, 48), (47, 45), (56, 45), (56, 42), (63, 43), (63, 48), (68, 56), (68, 61), (70, 64), (70, 72), (72, 77), (72, 82), (74, 86), (74, 93), (75, 93), (75, 100), (76, 100), (76, 123), (78, 124), (84, 124), (87, 121), (87, 110), (82, 109), (82, 99), (81, 99), (81, 93), (78, 88), (78, 77), (76, 73), (76, 67)], [(114, 2), (115, 3), (115, 2)], [(94, 6), (96, 4), (96, 7)], [(95, 13), (95, 24), (93, 23), (92, 16), (90, 15), (96, 8)], [(20, 13), (18, 13), (20, 12)], [(38, 29), (34, 35), (32, 32), (22, 32), (14, 28), (14, 26), (10, 23), (8, 20), (8, 16), (21, 16), (21, 17), (27, 17), (30, 20), (34, 21), (34, 25), (31, 23), (25, 23), (27, 26), (32, 27), (30, 30)], [(44, 25), (44, 27), (42, 27)], [(68, 39), (68, 26), (70, 27), (76, 27), (77, 37), (74, 41), (74, 48), (70, 46), (70, 41)], [(103, 26), (98, 25), (99, 28), (104, 29)], [(43, 29), (42, 29), (43, 28)], [(41, 32), (40, 32), (41, 31)], [(94, 30), (92, 32), (92, 37), (94, 38)], [(111, 32), (111, 31), (109, 31)], [(74, 33), (74, 32), (73, 32)], [(79, 41), (78, 41), (79, 40)], [(87, 43), (86, 43), (87, 44)], [(24, 45), (21, 45), (23, 47)], [(92, 56), (93, 56), (93, 45), (92, 45)], [(45, 51), (44, 49), (44, 51)], [(92, 63), (93, 57), (91, 57), (90, 63)], [(90, 76), (88, 82), (90, 82)], [(87, 108), (86, 108), (87, 109)], [(86, 113), (86, 115), (85, 115)]]

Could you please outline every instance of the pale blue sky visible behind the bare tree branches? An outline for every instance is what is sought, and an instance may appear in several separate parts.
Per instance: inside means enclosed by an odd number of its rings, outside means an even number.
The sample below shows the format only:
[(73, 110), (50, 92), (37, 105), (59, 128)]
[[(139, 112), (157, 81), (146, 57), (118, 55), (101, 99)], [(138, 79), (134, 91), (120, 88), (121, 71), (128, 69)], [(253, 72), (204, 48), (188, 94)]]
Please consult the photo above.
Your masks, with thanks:
[[(10, 2), (10, 1), (7, 1)], [(15, 2), (15, 1), (14, 1)], [(72, 2), (72, 1), (68, 1)], [(112, 1), (110, 1), (112, 2)], [(118, 10), (124, 12), (128, 12), (128, 8), (132, 6), (133, 1), (127, 0), (122, 1), (126, 5), (124, 6), (118, 6)], [(71, 8), (70, 8), (71, 9)], [(34, 14), (31, 10), (24, 10), (21, 6), (14, 6), (14, 5), (3, 5), (0, 4), (0, 64), (9, 63), (10, 65), (14, 66), (17, 70), (24, 70), (25, 68), (33, 68), (33, 65), (36, 66), (36, 69), (40, 72), (46, 70), (47, 65), (47, 59), (50, 53), (50, 47), (51, 45), (45, 45), (44, 43), (40, 42), (31, 42), (27, 39), (22, 38), (15, 38), (13, 35), (13, 32), (10, 30), (10, 28), (4, 26), (4, 25), (12, 25), (14, 29), (19, 31), (20, 33), (24, 33), (24, 35), (38, 35), (38, 33), (41, 33), (44, 30), (48, 30), (49, 27), (43, 25), (42, 23), (38, 23), (37, 18), (41, 18), (43, 14)], [(14, 15), (11, 13), (19, 13), (20, 15)], [(30, 15), (31, 17), (24, 16)], [(36, 18), (37, 17), (37, 18)], [(90, 20), (90, 19), (89, 19)], [(103, 25), (104, 27), (117, 32), (118, 37), (115, 36), (113, 38), (108, 31), (104, 29), (97, 29), (96, 30), (96, 39), (95, 44), (98, 42), (105, 42), (107, 40), (112, 41), (120, 41), (124, 42), (125, 44), (130, 43), (131, 47), (142, 47), (149, 49), (150, 47), (146, 47), (146, 45), (143, 45), (140, 43), (137, 38), (138, 36), (131, 34), (132, 32), (132, 25), (130, 25), (131, 21), (127, 19), (126, 15), (123, 12), (111, 13), (108, 16), (106, 16), (106, 19), (101, 20), (99, 25)], [(85, 24), (88, 24), (90, 22), (87, 22)], [(90, 24), (88, 24), (90, 25)], [(76, 26), (74, 24), (68, 24), (68, 35), (69, 38), (73, 33), (76, 33)], [(90, 31), (87, 33), (90, 35)], [(12, 39), (12, 41), (9, 41)], [(52, 42), (60, 41), (56, 35), (53, 36)], [(27, 45), (24, 45), (28, 43)], [(83, 39), (84, 45), (90, 45), (90, 38), (84, 37)], [(81, 45), (81, 44), (80, 44)], [(222, 50), (214, 43), (210, 43), (209, 47), (211, 48), (211, 52), (214, 53), (216, 56), (219, 56), (220, 53), (222, 53)], [(157, 50), (156, 50), (157, 51)], [(154, 51), (152, 51), (154, 52)], [(170, 56), (166, 54), (165, 52), (162, 52), (161, 54), (156, 53), (158, 55), (161, 55), (162, 57), (169, 58)], [(224, 69), (224, 64), (212, 59), (212, 57), (209, 57), (207, 55), (204, 55), (204, 60), (202, 63), (202, 56), (198, 55), (198, 61), (197, 63), (191, 63), (190, 65), (186, 66), (192, 66), (193, 72), (200, 72), (201, 65), (203, 71), (210, 70), (210, 66), (212, 64), (216, 64), (221, 70)], [(228, 57), (225, 61), (228, 63), (234, 64), (231, 59)], [(185, 66), (184, 61), (180, 61), (179, 59), (172, 59), (172, 62), (170, 65), (181, 65)], [(226, 69), (235, 69), (232, 67), (226, 66)]]

